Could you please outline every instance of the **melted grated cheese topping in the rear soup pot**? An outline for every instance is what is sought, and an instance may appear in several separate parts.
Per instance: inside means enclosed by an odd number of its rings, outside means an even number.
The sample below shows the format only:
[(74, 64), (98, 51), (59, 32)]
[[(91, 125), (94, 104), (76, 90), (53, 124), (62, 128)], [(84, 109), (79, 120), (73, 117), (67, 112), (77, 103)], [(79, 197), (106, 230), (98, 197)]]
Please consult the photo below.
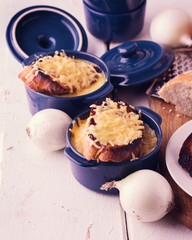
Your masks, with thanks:
[(79, 96), (95, 91), (107, 80), (104, 72), (90, 62), (70, 58), (64, 52), (56, 52), (54, 56), (44, 56), (33, 63), (33, 71), (49, 75), (61, 86), (68, 86), (70, 94)]

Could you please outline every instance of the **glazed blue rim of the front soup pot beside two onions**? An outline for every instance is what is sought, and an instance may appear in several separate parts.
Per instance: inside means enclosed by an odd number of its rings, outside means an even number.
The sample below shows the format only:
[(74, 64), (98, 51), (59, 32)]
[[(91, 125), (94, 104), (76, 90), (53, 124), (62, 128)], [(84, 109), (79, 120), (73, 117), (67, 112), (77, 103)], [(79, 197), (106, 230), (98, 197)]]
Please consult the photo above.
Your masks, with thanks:
[[(140, 108), (139, 107), (136, 107), (135, 108), (136, 111), (139, 111)], [(149, 113), (148, 114), (148, 108), (145, 108), (145, 107), (142, 107), (143, 110), (145, 111), (141, 111), (141, 114), (144, 115), (145, 117), (147, 117), (148, 119), (150, 119), (154, 124), (155, 124), (155, 127), (156, 127), (156, 132), (158, 132), (159, 136), (158, 136), (158, 142), (157, 142), (157, 146), (153, 149), (152, 152), (150, 152), (149, 154), (141, 157), (141, 158), (138, 158), (138, 159), (135, 159), (134, 162), (137, 163), (141, 163), (143, 162), (145, 159), (147, 158), (151, 158), (153, 155), (155, 155), (156, 153), (159, 152), (160, 150), (160, 147), (161, 147), (161, 143), (162, 143), (162, 131), (161, 131), (161, 128), (160, 128), (160, 125), (159, 123), (157, 123), (157, 121), (153, 118), (152, 116), (152, 110), (149, 109)], [(67, 147), (66, 149), (64, 150), (64, 154), (66, 154), (71, 161), (75, 162), (76, 164), (80, 165), (80, 166), (83, 166), (83, 167), (92, 167), (92, 166), (108, 166), (108, 167), (111, 167), (111, 166), (122, 166), (122, 165), (127, 165), (127, 164), (131, 164), (131, 161), (126, 161), (126, 162), (119, 162), (119, 163), (115, 163), (115, 162), (97, 162), (97, 161), (88, 161), (81, 153), (79, 153), (71, 144), (71, 141), (70, 141), (70, 129), (72, 128), (72, 125), (73, 125), (73, 122), (76, 121), (78, 118), (81, 118), (83, 116), (88, 116), (90, 110), (86, 110), (84, 111), (83, 113), (79, 114), (78, 116), (76, 116), (71, 124), (69, 125), (68, 127), (68, 130), (67, 130), (67, 133), (66, 133), (66, 138), (67, 138)], [(154, 112), (155, 113), (155, 112)], [(157, 113), (155, 113), (155, 115), (157, 115)], [(71, 151), (71, 153), (73, 155), (75, 155), (76, 159), (74, 157), (71, 157), (70, 156), (70, 153), (68, 154), (67, 152), (68, 151)], [(69, 152), (70, 152), (69, 151)]]

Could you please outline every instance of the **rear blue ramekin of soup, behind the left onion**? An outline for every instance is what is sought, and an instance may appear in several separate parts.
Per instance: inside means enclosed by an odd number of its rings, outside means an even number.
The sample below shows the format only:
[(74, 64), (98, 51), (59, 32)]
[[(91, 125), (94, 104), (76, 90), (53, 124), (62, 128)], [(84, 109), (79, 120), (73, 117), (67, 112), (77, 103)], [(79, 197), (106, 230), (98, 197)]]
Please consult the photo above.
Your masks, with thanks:
[[(86, 60), (93, 64), (96, 64), (101, 68), (104, 72), (107, 81), (96, 91), (82, 95), (82, 96), (75, 96), (75, 97), (56, 97), (56, 96), (49, 96), (46, 94), (42, 94), (39, 92), (35, 92), (29, 87), (25, 86), (28, 105), (30, 112), (32, 115), (35, 113), (46, 109), (46, 108), (55, 108), (66, 112), (72, 118), (80, 114), (81, 112), (85, 111), (89, 108), (89, 106), (94, 103), (98, 99), (103, 99), (106, 96), (109, 96), (113, 90), (113, 86), (110, 82), (110, 75), (109, 70), (106, 64), (97, 56), (81, 52), (81, 51), (65, 51), (65, 53), (70, 57), (75, 57), (77, 59)], [(30, 65), (36, 58), (40, 55), (53, 55), (54, 52), (42, 54), (36, 53), (31, 55), (29, 58), (24, 60), (23, 65)]]

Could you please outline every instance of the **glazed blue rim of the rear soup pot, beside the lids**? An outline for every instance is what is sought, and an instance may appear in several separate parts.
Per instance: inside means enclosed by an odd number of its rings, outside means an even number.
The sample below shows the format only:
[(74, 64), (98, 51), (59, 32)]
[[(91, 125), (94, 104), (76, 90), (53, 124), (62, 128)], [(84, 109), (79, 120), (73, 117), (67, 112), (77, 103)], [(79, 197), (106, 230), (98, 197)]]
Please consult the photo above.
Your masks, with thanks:
[[(40, 56), (45, 56), (45, 55), (53, 55), (55, 52), (48, 52), (48, 53), (36, 53), (36, 54), (33, 54), (31, 55), (30, 57), (28, 57), (27, 59), (24, 60), (23, 62), (23, 65), (26, 66), (26, 65), (30, 65), (33, 61), (35, 61), (38, 57)], [(83, 51), (70, 51), (70, 50), (66, 50), (65, 53), (67, 55), (77, 55), (77, 56), (85, 56), (85, 57), (88, 57), (90, 59), (93, 59), (93, 60), (96, 60), (98, 63), (100, 63), (102, 65), (99, 65), (97, 63), (95, 63), (94, 61), (91, 62), (89, 60), (89, 62), (93, 63), (93, 64), (97, 64), (99, 67), (101, 67), (101, 69), (103, 70), (104, 74), (105, 74), (105, 77), (107, 79), (107, 81), (98, 89), (96, 89), (95, 91), (91, 92), (91, 93), (87, 93), (87, 94), (84, 94), (84, 95), (79, 95), (79, 96), (72, 96), (72, 97), (68, 97), (68, 96), (50, 96), (50, 95), (46, 95), (46, 94), (43, 94), (43, 93), (40, 93), (40, 92), (36, 92), (32, 89), (30, 89), (28, 86), (25, 86), (29, 91), (41, 96), (41, 97), (48, 97), (50, 99), (66, 99), (66, 100), (76, 100), (76, 99), (83, 99), (83, 98), (86, 98), (86, 99), (89, 99), (91, 100), (91, 97), (94, 96), (94, 99), (96, 98), (96, 96), (98, 95), (98, 98), (101, 98), (102, 95), (106, 95), (106, 92), (111, 92), (113, 90), (113, 85), (111, 84), (110, 82), (110, 73), (109, 73), (109, 70), (108, 70), (108, 67), (107, 65), (99, 58), (97, 57), (96, 55), (94, 54), (91, 54), (91, 53), (87, 53), (87, 52), (83, 52)], [(78, 58), (78, 57), (77, 57)], [(81, 59), (80, 57), (78, 59)], [(86, 60), (84, 58), (82, 58), (83, 60)]]

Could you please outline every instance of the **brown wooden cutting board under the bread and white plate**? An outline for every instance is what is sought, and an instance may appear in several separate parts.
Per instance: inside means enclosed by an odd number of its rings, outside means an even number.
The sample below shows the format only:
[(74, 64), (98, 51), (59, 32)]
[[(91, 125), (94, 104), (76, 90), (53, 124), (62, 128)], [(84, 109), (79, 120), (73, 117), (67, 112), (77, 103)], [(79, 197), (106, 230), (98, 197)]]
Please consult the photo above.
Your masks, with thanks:
[(165, 151), (170, 137), (180, 126), (191, 120), (191, 118), (178, 113), (172, 104), (165, 103), (159, 98), (148, 96), (148, 100), (149, 107), (157, 112), (162, 118), (161, 129), (163, 141), (160, 153), (160, 171), (171, 184), (175, 194), (175, 208), (173, 214), (182, 224), (192, 229), (192, 197), (175, 183), (165, 163)]

